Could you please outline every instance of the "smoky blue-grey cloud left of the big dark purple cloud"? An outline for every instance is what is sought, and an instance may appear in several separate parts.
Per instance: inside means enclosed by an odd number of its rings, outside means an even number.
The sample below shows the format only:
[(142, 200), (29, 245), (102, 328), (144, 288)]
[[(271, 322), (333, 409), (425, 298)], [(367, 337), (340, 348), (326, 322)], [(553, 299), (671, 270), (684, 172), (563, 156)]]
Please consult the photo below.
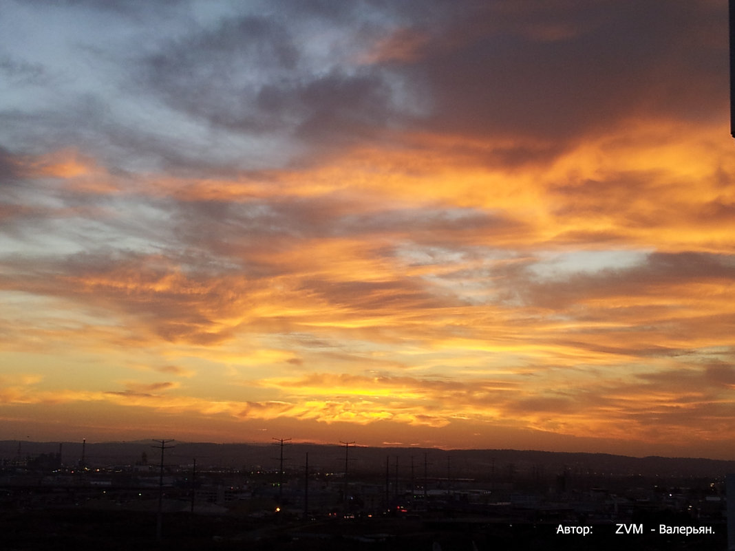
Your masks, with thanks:
[(309, 24), (279, 16), (223, 19), (214, 29), (168, 43), (135, 65), (133, 78), (212, 128), (277, 135), (311, 153), (379, 137), (386, 126), (405, 123), (395, 75), (379, 66), (355, 67), (338, 51), (309, 53), (300, 40), (314, 40), (323, 21)]

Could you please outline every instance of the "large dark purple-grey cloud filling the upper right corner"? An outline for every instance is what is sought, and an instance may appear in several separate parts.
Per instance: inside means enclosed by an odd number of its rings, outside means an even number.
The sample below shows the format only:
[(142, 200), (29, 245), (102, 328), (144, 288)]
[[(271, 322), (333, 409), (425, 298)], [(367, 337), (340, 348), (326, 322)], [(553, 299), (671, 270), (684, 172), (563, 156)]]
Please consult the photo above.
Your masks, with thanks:
[(428, 128), (572, 140), (636, 117), (725, 107), (720, 4), (459, 3), (406, 71), (426, 73)]

